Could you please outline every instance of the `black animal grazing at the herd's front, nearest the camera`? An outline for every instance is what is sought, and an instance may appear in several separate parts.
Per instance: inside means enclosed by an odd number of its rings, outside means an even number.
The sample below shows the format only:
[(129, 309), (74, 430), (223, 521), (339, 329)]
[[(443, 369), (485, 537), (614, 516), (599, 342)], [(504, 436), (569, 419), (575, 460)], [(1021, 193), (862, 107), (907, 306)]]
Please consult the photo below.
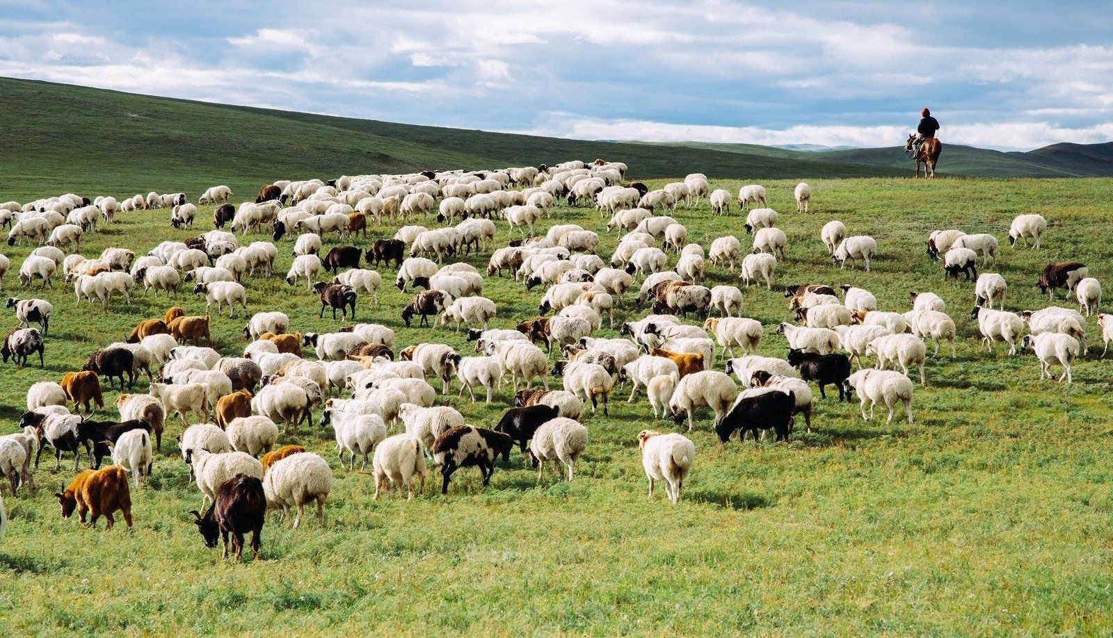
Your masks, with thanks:
[(259, 535), (266, 521), (267, 497), (263, 481), (246, 475), (236, 475), (220, 484), (216, 499), (201, 517), (196, 509), (189, 510), (197, 519), (197, 531), (205, 539), (205, 547), (216, 547), (217, 536), (224, 538), (224, 558), (228, 558), (228, 534), (232, 534), (232, 549), (239, 560), (244, 552), (244, 535), (252, 532), (252, 560), (259, 557)]

